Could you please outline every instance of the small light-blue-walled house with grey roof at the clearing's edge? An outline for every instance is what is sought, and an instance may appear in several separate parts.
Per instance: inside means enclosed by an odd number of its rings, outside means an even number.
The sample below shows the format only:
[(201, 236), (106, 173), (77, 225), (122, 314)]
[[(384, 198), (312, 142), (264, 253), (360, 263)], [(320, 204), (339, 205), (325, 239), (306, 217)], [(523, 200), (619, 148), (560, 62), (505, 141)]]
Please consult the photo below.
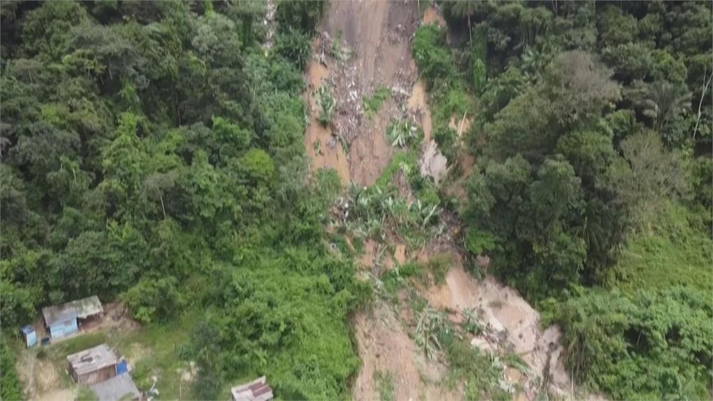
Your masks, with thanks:
[(42, 308), (45, 325), (53, 339), (77, 333), (82, 325), (98, 323), (103, 315), (104, 309), (96, 295)]

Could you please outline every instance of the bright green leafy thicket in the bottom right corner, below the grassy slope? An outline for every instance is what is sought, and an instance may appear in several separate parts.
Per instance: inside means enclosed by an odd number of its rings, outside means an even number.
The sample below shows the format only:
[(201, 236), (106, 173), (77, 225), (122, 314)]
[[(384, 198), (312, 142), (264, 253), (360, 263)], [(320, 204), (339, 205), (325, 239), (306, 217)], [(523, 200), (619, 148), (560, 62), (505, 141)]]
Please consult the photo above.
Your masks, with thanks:
[(556, 313), (575, 379), (617, 400), (709, 398), (713, 297), (692, 288), (588, 291)]

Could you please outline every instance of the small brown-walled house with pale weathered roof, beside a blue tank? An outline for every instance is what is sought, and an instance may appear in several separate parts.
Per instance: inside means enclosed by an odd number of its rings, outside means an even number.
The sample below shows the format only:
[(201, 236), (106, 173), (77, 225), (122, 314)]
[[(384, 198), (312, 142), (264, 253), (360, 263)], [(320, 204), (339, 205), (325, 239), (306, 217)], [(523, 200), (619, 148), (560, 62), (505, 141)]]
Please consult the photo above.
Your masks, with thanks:
[(94, 385), (116, 376), (117, 358), (102, 344), (67, 357), (69, 375), (76, 383)]

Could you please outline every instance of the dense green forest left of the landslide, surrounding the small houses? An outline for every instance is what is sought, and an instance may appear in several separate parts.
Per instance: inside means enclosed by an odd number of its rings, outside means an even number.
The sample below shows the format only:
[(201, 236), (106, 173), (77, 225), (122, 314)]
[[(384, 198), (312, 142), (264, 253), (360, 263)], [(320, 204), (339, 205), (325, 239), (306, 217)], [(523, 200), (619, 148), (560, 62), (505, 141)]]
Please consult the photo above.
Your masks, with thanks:
[(369, 288), (323, 241), (339, 178), (304, 156), (324, 3), (279, 4), (267, 56), (257, 2), (1, 6), (6, 333), (93, 294), (142, 323), (199, 308), (196, 398), (262, 374), (286, 399), (344, 397)]

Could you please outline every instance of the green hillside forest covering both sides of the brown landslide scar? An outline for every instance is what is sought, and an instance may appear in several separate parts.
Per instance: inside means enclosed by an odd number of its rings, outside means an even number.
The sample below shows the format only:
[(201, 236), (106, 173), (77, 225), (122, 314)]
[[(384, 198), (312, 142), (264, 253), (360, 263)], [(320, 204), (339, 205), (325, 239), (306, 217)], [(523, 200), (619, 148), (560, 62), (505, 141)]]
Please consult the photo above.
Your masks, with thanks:
[[(149, 328), (197, 316), (195, 399), (255, 375), (349, 397), (376, 295), (326, 229), (344, 186), (305, 151), (329, 4), (275, 1), (272, 32), (268, 3), (0, 3), (1, 399), (24, 398), (19, 328), (90, 295)], [(448, 176), (411, 181), (462, 225), (471, 273), (562, 329), (578, 386), (711, 398), (712, 4), (435, 4), (446, 24), (409, 40)]]

